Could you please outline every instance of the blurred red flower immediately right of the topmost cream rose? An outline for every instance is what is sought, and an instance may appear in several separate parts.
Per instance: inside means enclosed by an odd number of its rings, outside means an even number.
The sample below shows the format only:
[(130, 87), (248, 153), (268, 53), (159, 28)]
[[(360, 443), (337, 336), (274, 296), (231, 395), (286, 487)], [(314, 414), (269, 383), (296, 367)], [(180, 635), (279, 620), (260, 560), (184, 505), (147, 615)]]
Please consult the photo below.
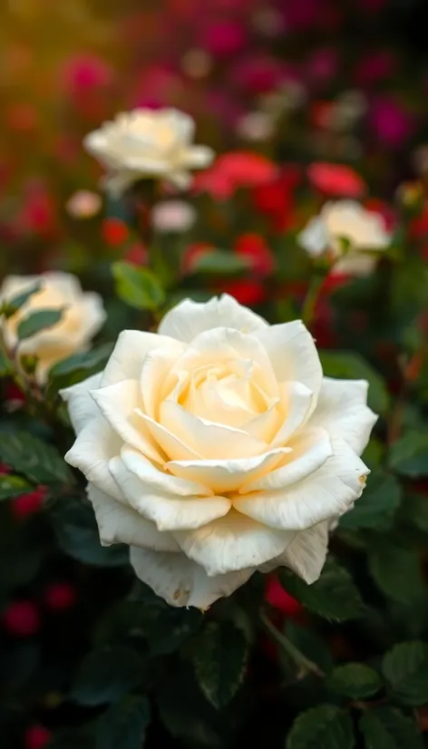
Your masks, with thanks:
[(208, 170), (193, 179), (195, 192), (208, 192), (219, 200), (230, 198), (238, 188), (265, 184), (277, 174), (277, 166), (266, 156), (252, 151), (230, 151), (219, 156)]

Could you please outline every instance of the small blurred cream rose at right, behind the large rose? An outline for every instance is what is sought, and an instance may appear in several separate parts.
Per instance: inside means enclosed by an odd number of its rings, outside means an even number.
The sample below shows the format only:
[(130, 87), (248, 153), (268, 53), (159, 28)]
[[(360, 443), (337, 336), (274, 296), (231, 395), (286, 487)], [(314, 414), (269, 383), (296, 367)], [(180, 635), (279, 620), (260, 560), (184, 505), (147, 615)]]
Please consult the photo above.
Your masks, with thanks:
[[(343, 258), (340, 257), (341, 238), (350, 242)], [(391, 235), (384, 228), (381, 216), (366, 210), (355, 200), (338, 200), (326, 203), (321, 213), (310, 219), (298, 241), (312, 258), (324, 255), (327, 250), (333, 253), (337, 258), (335, 273), (368, 276), (377, 262), (374, 250), (388, 247)]]

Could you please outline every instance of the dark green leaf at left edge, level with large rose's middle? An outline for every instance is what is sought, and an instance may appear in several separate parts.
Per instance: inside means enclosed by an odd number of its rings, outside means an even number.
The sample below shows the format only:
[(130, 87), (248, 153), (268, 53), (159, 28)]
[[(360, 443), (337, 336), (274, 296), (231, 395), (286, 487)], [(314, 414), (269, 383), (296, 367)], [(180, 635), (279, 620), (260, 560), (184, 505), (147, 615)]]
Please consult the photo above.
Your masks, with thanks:
[(53, 447), (27, 432), (11, 432), (0, 440), (0, 461), (29, 481), (39, 484), (72, 482), (63, 456)]

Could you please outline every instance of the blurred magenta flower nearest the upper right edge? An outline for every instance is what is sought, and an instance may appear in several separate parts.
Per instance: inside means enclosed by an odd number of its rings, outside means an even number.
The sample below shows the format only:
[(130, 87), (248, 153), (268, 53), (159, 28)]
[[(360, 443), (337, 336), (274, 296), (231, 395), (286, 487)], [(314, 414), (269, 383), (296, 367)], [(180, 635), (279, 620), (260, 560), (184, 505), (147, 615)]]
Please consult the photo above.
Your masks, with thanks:
[(369, 112), (369, 122), (378, 140), (389, 148), (400, 148), (413, 134), (414, 122), (398, 102), (378, 98)]

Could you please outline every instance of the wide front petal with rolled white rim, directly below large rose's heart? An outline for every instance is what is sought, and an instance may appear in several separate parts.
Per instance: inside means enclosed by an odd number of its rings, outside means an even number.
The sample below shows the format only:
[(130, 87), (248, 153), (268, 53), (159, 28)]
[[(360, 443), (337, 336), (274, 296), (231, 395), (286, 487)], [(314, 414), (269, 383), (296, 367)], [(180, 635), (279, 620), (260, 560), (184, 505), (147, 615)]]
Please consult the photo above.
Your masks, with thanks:
[(203, 483), (217, 492), (237, 491), (243, 482), (255, 481), (272, 471), (282, 456), (291, 452), (288, 447), (229, 461), (170, 461), (166, 468), (176, 476)]

